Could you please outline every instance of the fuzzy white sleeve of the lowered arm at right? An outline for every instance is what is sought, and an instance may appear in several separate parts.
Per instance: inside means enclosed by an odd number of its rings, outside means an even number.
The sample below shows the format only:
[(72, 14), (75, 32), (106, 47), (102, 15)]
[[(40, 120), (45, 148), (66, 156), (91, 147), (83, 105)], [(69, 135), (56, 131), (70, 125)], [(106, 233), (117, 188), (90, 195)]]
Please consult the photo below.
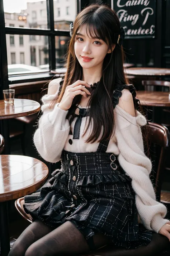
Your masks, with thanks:
[(136, 206), (143, 225), (156, 233), (167, 223), (164, 219), (166, 207), (156, 201), (149, 174), (152, 169), (150, 159), (144, 153), (141, 127), (145, 117), (136, 112), (136, 117), (117, 105), (115, 108), (115, 136), (119, 148), (118, 161), (127, 175), (132, 178), (136, 193)]

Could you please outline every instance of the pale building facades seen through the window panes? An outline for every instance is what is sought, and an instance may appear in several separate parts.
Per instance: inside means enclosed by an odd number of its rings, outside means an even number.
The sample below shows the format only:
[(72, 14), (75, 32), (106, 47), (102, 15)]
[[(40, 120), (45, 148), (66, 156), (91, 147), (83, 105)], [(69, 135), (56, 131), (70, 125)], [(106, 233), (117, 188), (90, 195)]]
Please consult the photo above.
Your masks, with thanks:
[[(77, 14), (76, 0), (54, 0), (55, 29), (69, 30)], [(22, 17), (22, 18), (21, 18)], [(24, 19), (23, 19), (24, 17)], [(46, 1), (27, 3), (21, 13), (5, 13), (5, 25), (28, 28), (47, 27)], [(69, 37), (56, 36), (56, 66), (62, 67)], [(48, 64), (48, 37), (6, 35), (8, 64), (41, 66)]]

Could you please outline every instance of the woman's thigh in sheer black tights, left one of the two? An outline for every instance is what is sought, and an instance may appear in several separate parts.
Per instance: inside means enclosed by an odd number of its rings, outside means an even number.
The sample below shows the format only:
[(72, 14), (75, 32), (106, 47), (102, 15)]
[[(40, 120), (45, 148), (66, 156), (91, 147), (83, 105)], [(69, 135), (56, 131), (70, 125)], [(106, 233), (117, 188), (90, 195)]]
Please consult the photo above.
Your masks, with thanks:
[(23, 256), (28, 247), (38, 239), (47, 235), (53, 228), (47, 226), (40, 220), (31, 223), (13, 244), (9, 256)]

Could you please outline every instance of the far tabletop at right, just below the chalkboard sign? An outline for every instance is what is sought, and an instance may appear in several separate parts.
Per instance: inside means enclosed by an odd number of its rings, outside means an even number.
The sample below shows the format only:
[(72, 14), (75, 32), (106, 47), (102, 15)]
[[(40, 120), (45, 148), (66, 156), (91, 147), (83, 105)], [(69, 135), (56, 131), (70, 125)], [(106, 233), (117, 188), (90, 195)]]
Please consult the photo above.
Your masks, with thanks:
[(136, 76), (170, 76), (170, 68), (127, 68), (126, 73)]

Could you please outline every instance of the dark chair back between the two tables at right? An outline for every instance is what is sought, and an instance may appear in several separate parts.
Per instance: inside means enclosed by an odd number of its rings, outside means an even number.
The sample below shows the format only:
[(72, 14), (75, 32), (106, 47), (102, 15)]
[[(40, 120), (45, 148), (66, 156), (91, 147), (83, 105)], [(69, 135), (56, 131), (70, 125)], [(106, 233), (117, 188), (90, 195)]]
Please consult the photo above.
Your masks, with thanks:
[(169, 91), (170, 82), (160, 80), (142, 80), (145, 91)]

